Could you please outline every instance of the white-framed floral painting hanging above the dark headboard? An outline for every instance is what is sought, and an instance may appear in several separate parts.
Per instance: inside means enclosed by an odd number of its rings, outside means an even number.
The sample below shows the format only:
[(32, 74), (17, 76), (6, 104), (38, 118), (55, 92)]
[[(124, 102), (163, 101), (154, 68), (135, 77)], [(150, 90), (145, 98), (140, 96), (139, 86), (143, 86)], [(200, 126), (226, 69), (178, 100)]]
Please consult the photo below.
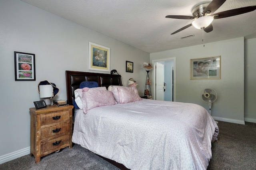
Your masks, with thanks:
[(110, 71), (110, 48), (89, 42), (89, 70)]

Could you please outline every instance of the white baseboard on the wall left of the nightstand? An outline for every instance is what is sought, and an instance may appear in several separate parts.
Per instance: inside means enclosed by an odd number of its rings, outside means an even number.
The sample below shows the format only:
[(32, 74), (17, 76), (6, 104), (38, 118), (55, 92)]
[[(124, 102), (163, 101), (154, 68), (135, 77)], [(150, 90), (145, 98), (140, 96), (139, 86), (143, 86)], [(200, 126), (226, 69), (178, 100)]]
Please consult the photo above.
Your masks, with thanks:
[(10, 160), (14, 160), (16, 158), (19, 158), (19, 157), (27, 155), (27, 154), (30, 154), (30, 146), (27, 148), (23, 148), (23, 149), (14, 151), (12, 153), (0, 156), (0, 164), (2, 164), (4, 162), (8, 162)]

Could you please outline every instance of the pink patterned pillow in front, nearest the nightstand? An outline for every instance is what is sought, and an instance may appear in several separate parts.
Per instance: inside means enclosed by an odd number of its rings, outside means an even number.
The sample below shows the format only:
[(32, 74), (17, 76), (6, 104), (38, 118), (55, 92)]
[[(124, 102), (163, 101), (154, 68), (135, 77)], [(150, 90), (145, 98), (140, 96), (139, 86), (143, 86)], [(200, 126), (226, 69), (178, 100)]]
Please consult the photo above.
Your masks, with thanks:
[(95, 107), (116, 104), (116, 101), (111, 91), (96, 90), (84, 87), (82, 89), (82, 93), (84, 113), (87, 113), (90, 109)]

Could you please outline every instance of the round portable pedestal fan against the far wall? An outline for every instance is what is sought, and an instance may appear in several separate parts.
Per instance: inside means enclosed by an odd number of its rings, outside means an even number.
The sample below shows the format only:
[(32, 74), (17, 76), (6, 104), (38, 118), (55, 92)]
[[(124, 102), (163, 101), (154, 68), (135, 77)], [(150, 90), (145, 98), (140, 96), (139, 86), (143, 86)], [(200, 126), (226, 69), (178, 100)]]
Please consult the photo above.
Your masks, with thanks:
[[(209, 104), (209, 113), (211, 115), (212, 103), (217, 99), (216, 91), (212, 88), (205, 88), (201, 91), (200, 95), (202, 96), (203, 101)], [(217, 121), (215, 122), (218, 123)]]

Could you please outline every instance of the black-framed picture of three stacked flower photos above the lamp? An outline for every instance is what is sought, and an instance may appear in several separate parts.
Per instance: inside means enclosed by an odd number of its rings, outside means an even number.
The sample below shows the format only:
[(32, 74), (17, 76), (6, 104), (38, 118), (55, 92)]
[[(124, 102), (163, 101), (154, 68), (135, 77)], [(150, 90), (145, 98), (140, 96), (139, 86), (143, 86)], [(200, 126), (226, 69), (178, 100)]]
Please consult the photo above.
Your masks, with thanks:
[(35, 81), (35, 54), (14, 51), (15, 81)]

